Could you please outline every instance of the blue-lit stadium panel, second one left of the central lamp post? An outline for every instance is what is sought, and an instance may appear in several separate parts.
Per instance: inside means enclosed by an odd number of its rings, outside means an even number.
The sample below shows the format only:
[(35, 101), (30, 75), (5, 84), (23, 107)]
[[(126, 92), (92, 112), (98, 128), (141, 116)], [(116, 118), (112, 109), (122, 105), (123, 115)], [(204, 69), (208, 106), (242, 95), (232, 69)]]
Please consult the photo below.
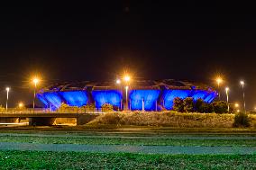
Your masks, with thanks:
[(70, 106), (81, 107), (87, 105), (88, 96), (86, 91), (59, 92)]

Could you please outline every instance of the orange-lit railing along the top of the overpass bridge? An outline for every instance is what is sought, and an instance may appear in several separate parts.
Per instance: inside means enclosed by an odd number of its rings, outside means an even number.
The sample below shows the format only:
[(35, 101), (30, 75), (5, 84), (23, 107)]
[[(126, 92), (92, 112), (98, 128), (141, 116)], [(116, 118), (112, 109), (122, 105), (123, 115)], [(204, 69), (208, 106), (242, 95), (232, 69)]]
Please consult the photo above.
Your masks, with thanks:
[(50, 111), (50, 109), (17, 109), (17, 108), (8, 108), (8, 110), (0, 110), (0, 113), (103, 113), (101, 109), (95, 110), (84, 110), (84, 109), (61, 109), (57, 111)]

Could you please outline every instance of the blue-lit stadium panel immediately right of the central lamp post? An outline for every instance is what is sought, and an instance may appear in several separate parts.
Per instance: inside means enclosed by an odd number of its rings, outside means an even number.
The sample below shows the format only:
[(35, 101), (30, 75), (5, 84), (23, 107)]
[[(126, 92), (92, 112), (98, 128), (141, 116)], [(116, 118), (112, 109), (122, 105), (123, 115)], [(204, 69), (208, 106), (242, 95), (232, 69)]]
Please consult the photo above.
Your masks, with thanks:
[(132, 90), (130, 94), (131, 109), (142, 110), (142, 100), (144, 100), (145, 111), (154, 111), (159, 95), (160, 90)]

